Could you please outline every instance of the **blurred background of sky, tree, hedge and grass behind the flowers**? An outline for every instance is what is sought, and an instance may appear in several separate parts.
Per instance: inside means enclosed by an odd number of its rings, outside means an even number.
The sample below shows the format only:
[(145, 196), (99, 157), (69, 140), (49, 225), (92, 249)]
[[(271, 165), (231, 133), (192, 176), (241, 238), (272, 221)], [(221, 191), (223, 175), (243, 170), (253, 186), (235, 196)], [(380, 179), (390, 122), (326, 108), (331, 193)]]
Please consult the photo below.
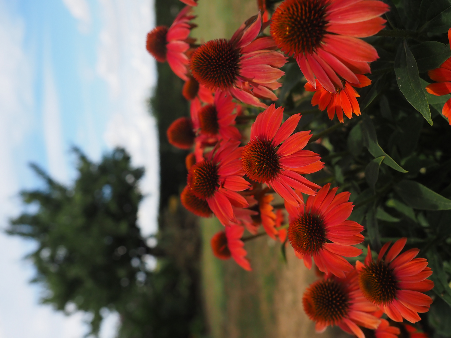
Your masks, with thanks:
[[(258, 10), (201, 1), (201, 42)], [(293, 252), (258, 238), (245, 272), (179, 204), (188, 152), (166, 129), (189, 105), (145, 41), (183, 6), (0, 0), (0, 338), (316, 336)]]

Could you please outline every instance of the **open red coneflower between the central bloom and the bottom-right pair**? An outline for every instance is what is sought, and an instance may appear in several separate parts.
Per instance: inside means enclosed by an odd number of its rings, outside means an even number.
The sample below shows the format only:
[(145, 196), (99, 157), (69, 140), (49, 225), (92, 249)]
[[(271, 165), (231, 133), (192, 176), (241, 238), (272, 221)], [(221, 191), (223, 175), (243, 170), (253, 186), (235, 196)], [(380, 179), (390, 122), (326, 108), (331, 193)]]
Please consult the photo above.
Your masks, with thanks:
[(322, 272), (345, 277), (354, 268), (343, 258), (356, 257), (362, 250), (353, 247), (364, 241), (360, 234), (364, 227), (346, 220), (353, 205), (348, 202), (350, 192), (336, 195), (338, 187), (329, 190), (331, 184), (322, 187), (316, 196), (308, 196), (307, 205), (295, 208), (285, 204), (290, 215), (288, 240), (296, 256), (312, 267), (312, 257)]

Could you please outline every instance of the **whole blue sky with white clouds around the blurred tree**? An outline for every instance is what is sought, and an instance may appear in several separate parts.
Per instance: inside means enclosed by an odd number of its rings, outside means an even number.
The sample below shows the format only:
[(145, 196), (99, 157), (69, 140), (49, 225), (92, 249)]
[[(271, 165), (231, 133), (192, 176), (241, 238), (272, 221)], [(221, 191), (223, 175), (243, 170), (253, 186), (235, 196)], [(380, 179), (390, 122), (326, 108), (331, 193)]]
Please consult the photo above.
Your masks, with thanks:
[[(152, 0), (0, 0), (0, 226), (20, 211), (18, 191), (37, 187), (35, 162), (52, 177), (75, 177), (71, 146), (91, 159), (124, 146), (146, 168), (139, 210), (145, 235), (156, 230), (158, 155), (145, 100), (156, 81), (145, 50)], [(32, 243), (0, 234), (0, 338), (81, 338), (83, 314), (39, 306)], [(114, 336), (110, 315), (102, 338)]]

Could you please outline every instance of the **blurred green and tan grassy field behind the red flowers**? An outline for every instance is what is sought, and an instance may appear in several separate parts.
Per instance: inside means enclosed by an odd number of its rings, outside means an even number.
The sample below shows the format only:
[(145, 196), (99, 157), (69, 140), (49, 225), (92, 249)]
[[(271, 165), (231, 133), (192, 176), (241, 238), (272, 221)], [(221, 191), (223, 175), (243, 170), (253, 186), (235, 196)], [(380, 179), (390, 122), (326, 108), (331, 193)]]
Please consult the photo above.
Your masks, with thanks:
[[(257, 14), (256, 0), (199, 0), (198, 28), (193, 37), (204, 42), (230, 38), (246, 19)], [(246, 242), (253, 271), (233, 260), (219, 260), (210, 247), (222, 229), (217, 219), (202, 219), (202, 283), (208, 326), (212, 338), (349, 337), (340, 329), (316, 334), (302, 307), (302, 295), (316, 276), (287, 248), (267, 236)], [(248, 234), (249, 235), (249, 234)]]

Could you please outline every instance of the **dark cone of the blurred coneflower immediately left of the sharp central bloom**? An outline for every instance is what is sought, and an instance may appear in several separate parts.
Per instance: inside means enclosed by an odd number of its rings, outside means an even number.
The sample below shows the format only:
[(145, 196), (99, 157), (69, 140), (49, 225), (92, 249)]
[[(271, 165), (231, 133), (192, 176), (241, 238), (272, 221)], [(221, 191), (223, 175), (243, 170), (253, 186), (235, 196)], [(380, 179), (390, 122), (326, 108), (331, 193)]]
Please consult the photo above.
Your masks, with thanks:
[(188, 185), (193, 194), (203, 200), (213, 196), (219, 187), (218, 180), (218, 169), (212, 161), (203, 160), (189, 169)]

